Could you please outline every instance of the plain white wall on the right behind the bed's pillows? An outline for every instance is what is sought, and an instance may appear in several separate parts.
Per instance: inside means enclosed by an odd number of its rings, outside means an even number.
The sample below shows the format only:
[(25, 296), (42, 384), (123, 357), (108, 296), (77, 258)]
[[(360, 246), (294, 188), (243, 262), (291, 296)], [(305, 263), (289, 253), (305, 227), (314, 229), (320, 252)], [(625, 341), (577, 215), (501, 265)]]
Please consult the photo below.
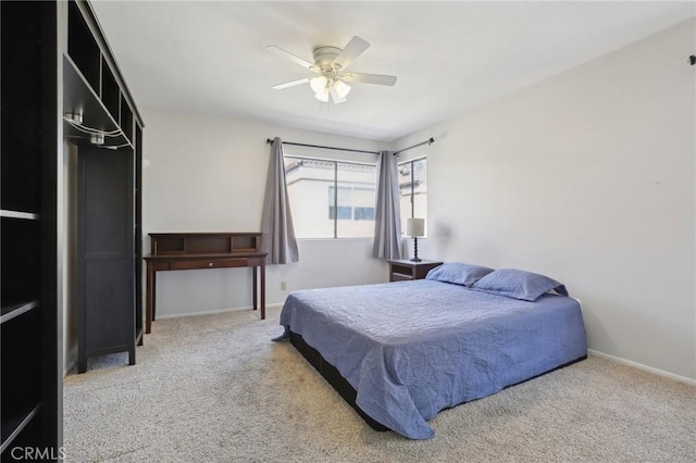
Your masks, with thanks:
[(421, 255), (550, 275), (591, 349), (696, 378), (695, 30), (398, 140), (436, 140)]

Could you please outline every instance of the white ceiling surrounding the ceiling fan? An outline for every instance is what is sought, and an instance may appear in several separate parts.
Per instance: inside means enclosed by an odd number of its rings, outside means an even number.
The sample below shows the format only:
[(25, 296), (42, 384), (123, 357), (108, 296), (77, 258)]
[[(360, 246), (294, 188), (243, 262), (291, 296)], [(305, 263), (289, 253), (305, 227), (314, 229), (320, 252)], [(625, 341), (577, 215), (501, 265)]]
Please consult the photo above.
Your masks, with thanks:
[[(693, 1), (92, 1), (138, 107), (390, 141), (685, 21)], [(320, 105), (308, 61), (352, 36), (350, 71), (398, 76)], [(684, 57), (686, 60), (687, 57)], [(147, 120), (145, 121), (147, 124)]]

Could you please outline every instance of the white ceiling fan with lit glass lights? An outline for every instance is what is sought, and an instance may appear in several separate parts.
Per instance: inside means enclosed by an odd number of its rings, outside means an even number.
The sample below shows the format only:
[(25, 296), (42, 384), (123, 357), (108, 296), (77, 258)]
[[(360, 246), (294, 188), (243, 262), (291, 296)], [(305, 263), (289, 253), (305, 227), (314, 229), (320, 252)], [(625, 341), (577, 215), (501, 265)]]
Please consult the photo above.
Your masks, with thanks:
[(341, 50), (338, 47), (316, 47), (313, 52), (314, 62), (310, 63), (288, 51), (276, 46), (269, 46), (265, 49), (278, 53), (302, 67), (318, 74), (316, 77), (304, 77), (297, 80), (290, 80), (283, 84), (274, 85), (271, 88), (282, 90), (296, 85), (309, 83), (314, 90), (314, 97), (323, 102), (328, 102), (328, 96), (334, 103), (343, 103), (346, 96), (350, 91), (348, 84), (377, 84), (391, 86), (396, 83), (396, 76), (387, 76), (382, 74), (364, 74), (346, 72), (346, 67), (352, 61), (362, 54), (370, 47), (370, 43), (356, 36)]

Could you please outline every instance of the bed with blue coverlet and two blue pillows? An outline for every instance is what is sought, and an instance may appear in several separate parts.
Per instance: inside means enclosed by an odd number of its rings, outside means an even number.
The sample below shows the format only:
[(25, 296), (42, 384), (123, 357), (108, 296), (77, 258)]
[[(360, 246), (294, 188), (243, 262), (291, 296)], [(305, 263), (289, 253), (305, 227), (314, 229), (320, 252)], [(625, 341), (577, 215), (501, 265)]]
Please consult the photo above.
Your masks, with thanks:
[(373, 428), (411, 439), (433, 437), (427, 421), (444, 409), (586, 358), (580, 302), (560, 283), (440, 267), (426, 279), (294, 291), (276, 339), (290, 339)]

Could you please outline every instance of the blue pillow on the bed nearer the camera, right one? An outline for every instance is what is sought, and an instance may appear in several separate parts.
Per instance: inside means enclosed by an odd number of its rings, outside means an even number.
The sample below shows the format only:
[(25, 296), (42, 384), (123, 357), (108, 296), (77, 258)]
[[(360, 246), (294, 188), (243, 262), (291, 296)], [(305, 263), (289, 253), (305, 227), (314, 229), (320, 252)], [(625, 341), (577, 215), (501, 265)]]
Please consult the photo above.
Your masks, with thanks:
[(492, 272), (476, 281), (472, 289), (532, 302), (550, 290), (568, 296), (566, 286), (555, 279), (515, 268)]

